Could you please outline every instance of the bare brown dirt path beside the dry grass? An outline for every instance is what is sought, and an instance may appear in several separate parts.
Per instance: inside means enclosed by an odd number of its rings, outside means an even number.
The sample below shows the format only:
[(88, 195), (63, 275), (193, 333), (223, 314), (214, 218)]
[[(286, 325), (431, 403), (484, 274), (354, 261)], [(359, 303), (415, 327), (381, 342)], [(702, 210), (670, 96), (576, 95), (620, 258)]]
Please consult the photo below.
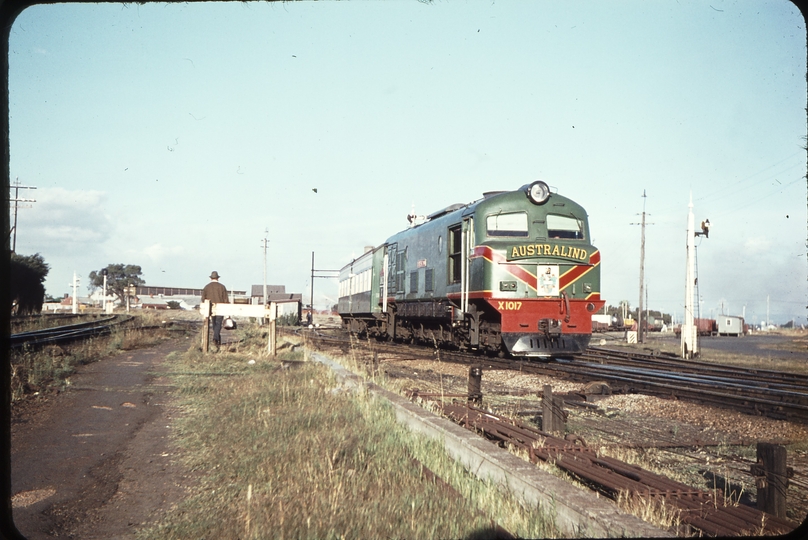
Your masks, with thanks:
[(12, 503), (27, 538), (134, 538), (184, 493), (163, 360), (187, 339), (89, 364), (12, 411)]

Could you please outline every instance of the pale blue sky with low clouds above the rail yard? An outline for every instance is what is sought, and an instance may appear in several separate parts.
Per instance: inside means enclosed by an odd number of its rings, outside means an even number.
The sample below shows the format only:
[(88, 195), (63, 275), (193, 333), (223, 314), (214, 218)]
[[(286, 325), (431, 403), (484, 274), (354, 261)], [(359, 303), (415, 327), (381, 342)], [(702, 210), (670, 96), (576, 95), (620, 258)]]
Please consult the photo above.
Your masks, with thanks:
[[(10, 37), (17, 251), (308, 298), (407, 225), (542, 179), (587, 208), (603, 297), (805, 323), (806, 33), (786, 1), (57, 4)], [(315, 193), (313, 189), (317, 189)], [(315, 305), (336, 302), (317, 279)]]

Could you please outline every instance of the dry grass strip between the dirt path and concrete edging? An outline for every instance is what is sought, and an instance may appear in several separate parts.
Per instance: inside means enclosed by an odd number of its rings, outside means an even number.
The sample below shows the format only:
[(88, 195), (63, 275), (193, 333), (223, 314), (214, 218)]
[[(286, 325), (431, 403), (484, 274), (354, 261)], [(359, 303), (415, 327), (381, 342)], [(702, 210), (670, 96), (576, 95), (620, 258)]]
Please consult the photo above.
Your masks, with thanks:
[(324, 366), (239, 350), (170, 356), (176, 443), (197, 482), (139, 538), (487, 538), (494, 523), (559, 536), (538, 508), (399, 426), (382, 401), (335, 389)]

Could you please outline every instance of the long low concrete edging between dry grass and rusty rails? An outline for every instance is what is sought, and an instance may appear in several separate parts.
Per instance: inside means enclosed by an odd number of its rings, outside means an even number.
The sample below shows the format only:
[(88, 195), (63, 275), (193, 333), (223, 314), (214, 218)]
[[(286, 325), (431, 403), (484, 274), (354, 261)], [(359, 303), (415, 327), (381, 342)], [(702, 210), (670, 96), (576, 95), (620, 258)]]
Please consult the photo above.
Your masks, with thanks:
[(538, 505), (550, 514), (554, 512), (556, 526), (565, 534), (589, 538), (675, 536), (619, 510), (607, 499), (542, 471), (450, 420), (364, 380), (321, 354), (312, 353), (311, 358), (331, 368), (344, 387), (367, 390), (388, 401), (400, 423), (413, 432), (440, 439), (447, 453), (478, 478), (504, 486), (526, 504)]

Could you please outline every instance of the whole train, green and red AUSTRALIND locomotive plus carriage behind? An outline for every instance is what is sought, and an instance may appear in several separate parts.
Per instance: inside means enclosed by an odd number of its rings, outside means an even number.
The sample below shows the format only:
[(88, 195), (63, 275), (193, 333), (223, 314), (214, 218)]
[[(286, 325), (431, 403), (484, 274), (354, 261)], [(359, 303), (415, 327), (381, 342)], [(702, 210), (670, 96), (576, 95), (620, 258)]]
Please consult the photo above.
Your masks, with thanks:
[(348, 330), (517, 357), (583, 351), (600, 299), (586, 211), (537, 181), (427, 216), (340, 270)]

